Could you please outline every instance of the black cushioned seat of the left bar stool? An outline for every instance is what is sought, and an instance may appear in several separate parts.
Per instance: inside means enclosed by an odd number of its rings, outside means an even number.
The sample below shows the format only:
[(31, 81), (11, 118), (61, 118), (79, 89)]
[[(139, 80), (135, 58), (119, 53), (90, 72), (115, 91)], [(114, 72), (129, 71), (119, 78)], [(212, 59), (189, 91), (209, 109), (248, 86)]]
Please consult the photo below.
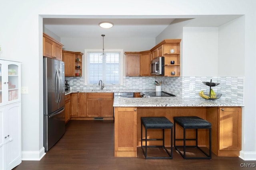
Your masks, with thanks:
[(141, 117), (144, 127), (148, 129), (170, 129), (173, 123), (166, 117)]

